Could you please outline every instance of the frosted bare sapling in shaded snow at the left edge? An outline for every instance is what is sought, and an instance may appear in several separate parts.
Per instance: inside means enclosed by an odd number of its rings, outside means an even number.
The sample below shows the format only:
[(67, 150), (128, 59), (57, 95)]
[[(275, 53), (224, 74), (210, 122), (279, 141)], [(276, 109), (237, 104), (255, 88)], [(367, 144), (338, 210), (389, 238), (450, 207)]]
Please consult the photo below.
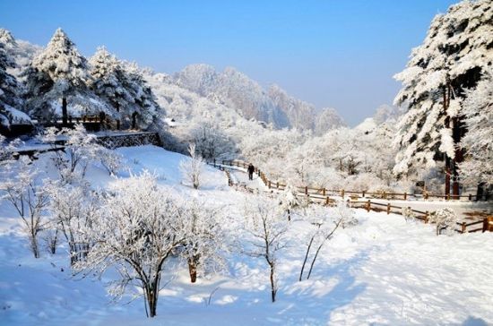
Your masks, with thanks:
[(49, 196), (39, 180), (39, 171), (31, 167), (29, 158), (22, 156), (2, 171), (0, 199), (9, 202), (22, 219), (30, 250), (39, 258), (39, 232), (44, 227), (43, 212)]

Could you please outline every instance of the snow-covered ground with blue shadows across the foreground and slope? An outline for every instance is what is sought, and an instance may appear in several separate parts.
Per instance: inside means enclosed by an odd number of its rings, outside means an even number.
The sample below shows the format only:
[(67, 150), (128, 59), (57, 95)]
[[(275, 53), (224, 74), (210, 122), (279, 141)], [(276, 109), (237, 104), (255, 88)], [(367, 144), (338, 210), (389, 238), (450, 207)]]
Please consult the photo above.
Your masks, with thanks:
[[(129, 170), (153, 172), (163, 187), (206, 198), (229, 211), (231, 235), (251, 194), (232, 190), (223, 172), (207, 167), (203, 188), (181, 184), (183, 156), (154, 146), (119, 149)], [(48, 155), (48, 154), (43, 154)], [(39, 159), (38, 165), (48, 164)], [(50, 167), (46, 167), (48, 170)], [(49, 172), (49, 171), (48, 171)], [(234, 173), (246, 181), (242, 173)], [(88, 170), (93, 186), (111, 181)], [(258, 183), (254, 180), (252, 183)], [(435, 236), (432, 226), (401, 216), (355, 210), (359, 225), (340, 230), (324, 247), (309, 280), (298, 281), (307, 223), (291, 222), (290, 246), (279, 262), (278, 300), (270, 302), (266, 263), (231, 252), (228, 270), (190, 284), (187, 270), (165, 270), (158, 316), (144, 317), (143, 299), (111, 303), (104, 282), (71, 277), (67, 253), (32, 258), (19, 219), (0, 203), (2, 325), (488, 325), (493, 323), (493, 234)], [(66, 248), (65, 248), (66, 249)]]

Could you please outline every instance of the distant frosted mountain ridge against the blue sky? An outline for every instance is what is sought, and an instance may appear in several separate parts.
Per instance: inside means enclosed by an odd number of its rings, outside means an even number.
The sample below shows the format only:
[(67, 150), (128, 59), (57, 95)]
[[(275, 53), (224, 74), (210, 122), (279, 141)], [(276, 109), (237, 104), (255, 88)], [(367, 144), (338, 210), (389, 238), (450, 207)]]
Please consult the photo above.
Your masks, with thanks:
[(173, 74), (171, 79), (179, 87), (219, 99), (241, 116), (264, 121), (277, 129), (288, 127), (322, 134), (346, 125), (334, 109), (317, 111), (313, 105), (291, 97), (275, 84), (264, 90), (235, 68), (228, 67), (221, 73), (208, 64), (191, 64)]

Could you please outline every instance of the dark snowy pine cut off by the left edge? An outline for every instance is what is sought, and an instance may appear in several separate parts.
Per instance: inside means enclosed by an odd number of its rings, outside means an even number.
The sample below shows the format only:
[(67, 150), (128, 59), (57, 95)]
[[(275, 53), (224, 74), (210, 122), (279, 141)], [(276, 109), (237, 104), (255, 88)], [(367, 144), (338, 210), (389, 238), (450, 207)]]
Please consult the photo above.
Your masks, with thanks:
[(6, 51), (3, 39), (0, 39), (0, 125), (8, 127), (14, 122), (29, 122), (30, 119), (19, 111), (23, 105), (19, 95), (21, 85), (12, 74), (7, 72), (8, 68), (15, 67), (15, 62), (13, 57)]

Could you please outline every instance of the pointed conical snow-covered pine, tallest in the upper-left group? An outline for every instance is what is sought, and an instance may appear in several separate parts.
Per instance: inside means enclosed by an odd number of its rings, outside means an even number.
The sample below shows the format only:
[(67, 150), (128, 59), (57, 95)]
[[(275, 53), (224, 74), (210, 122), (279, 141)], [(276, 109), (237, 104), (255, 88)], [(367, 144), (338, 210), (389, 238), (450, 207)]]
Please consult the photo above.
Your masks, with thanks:
[(91, 78), (87, 60), (62, 29), (56, 30), (48, 46), (33, 58), (25, 75), (30, 116), (49, 121), (61, 113), (66, 124), (69, 113), (108, 112), (87, 86)]

